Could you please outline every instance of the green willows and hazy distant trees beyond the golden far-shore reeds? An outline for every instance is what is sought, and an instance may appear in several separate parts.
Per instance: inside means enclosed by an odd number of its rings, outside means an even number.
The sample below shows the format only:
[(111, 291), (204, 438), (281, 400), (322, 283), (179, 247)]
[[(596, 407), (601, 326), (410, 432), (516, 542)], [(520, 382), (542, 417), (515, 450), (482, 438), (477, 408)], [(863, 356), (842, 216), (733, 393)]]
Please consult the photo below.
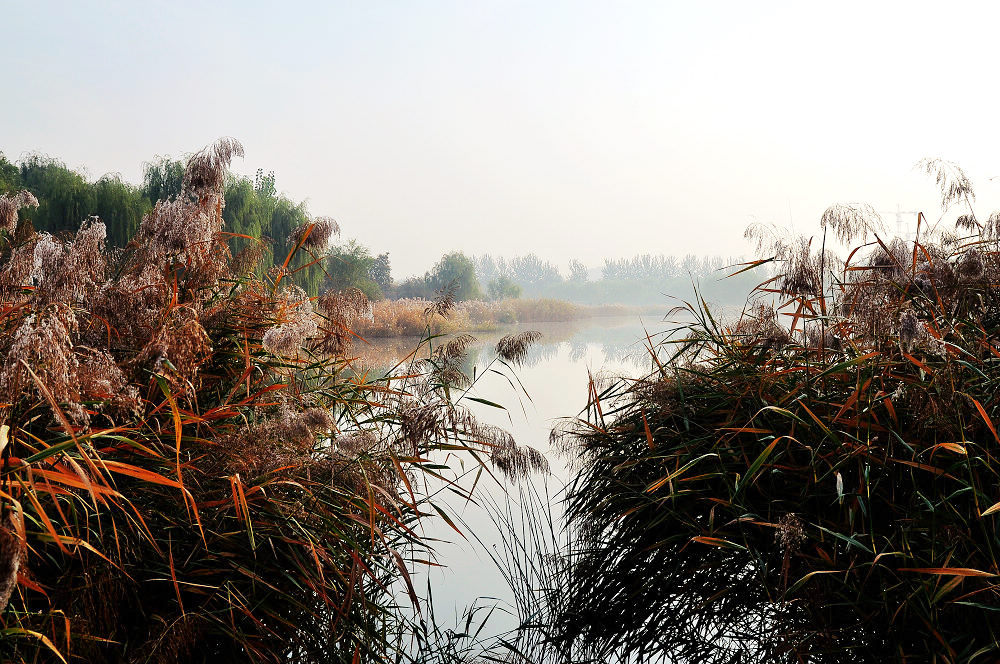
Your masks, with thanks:
[[(135, 234), (157, 201), (181, 195), (183, 179), (183, 161), (168, 157), (145, 164), (142, 182), (135, 185), (117, 174), (90, 180), (43, 155), (31, 154), (14, 163), (0, 153), (0, 193), (27, 189), (35, 195), (38, 208), (24, 210), (22, 217), (36, 230), (75, 231), (88, 217), (98, 216), (107, 226), (108, 242), (119, 247)], [(708, 295), (726, 299), (730, 294), (745, 293), (755, 278), (744, 275), (719, 282), (726, 266), (741, 262), (719, 256), (643, 254), (606, 259), (601, 278), (590, 280), (587, 267), (579, 260), (569, 262), (564, 276), (558, 266), (534, 253), (508, 259), (489, 254), (469, 257), (452, 251), (423, 276), (396, 282), (389, 254), (375, 254), (355, 240), (331, 243), (318, 252), (300, 251), (285, 265), (295, 241), (294, 229), (307, 224), (310, 216), (305, 203), (279, 193), (273, 172), (258, 169), (253, 178), (229, 175), (225, 200), (224, 230), (230, 234), (233, 253), (259, 245), (264, 249), (258, 268), (261, 273), (280, 268), (294, 271), (296, 283), (313, 295), (353, 287), (371, 300), (432, 298), (451, 289), (459, 300), (523, 295), (584, 304), (649, 304), (663, 301), (664, 293), (690, 292), (692, 280), (701, 281)]]

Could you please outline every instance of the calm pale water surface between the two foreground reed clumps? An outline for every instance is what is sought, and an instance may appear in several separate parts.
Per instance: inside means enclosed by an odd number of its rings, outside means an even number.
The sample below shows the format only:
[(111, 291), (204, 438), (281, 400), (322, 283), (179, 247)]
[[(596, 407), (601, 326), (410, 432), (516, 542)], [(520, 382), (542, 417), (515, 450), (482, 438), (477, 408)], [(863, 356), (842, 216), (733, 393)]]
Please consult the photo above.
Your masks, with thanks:
[[(520, 386), (517, 381), (512, 386), (507, 379), (492, 372), (483, 373), (495, 358), (493, 348), (501, 334), (520, 330), (477, 335), (477, 342), (469, 348), (471, 366), (466, 368), (471, 375), (475, 367), (479, 376), (470, 395), (498, 402), (506, 410), (475, 402), (467, 402), (466, 405), (480, 421), (503, 427), (513, 434), (518, 444), (529, 445), (545, 453), (552, 467), (552, 475), (546, 482), (549, 490), (556, 493), (569, 475), (565, 459), (549, 447), (549, 433), (553, 426), (561, 418), (572, 417), (586, 407), (591, 375), (634, 377), (648, 372), (652, 364), (645, 347), (647, 334), (653, 337), (655, 343), (662, 339), (662, 332), (669, 327), (673, 325), (653, 315), (526, 326), (523, 329), (538, 330), (542, 338), (517, 369)], [(364, 351), (365, 359), (373, 365), (387, 366), (405, 357), (414, 344), (415, 340), (374, 340)], [(451, 460), (457, 465), (455, 461)], [(470, 473), (463, 478), (465, 486), (472, 484), (473, 464), (466, 461)], [(534, 481), (541, 482), (541, 479)], [(482, 474), (476, 487), (477, 495), (501, 505), (508, 500), (516, 500), (511, 495), (516, 493), (516, 489), (501, 486), (502, 482)], [(513, 491), (505, 491), (505, 488)], [(443, 492), (436, 501), (450, 514), (459, 517), (459, 528), (466, 537), (440, 519), (427, 520), (423, 525), (424, 535), (440, 540), (435, 544), (435, 551), (437, 562), (443, 567), (430, 568), (423, 577), (415, 578), (418, 592), (430, 582), (435, 614), (445, 626), (455, 624), (467, 607), (479, 601), (480, 604), (497, 604), (500, 609), (490, 618), (490, 632), (513, 628), (515, 617), (505, 613), (513, 603), (513, 594), (487, 553), (487, 548), (501, 544), (496, 526), (480, 505), (447, 492)], [(514, 511), (518, 511), (516, 506)], [(482, 541), (477, 541), (471, 533)]]

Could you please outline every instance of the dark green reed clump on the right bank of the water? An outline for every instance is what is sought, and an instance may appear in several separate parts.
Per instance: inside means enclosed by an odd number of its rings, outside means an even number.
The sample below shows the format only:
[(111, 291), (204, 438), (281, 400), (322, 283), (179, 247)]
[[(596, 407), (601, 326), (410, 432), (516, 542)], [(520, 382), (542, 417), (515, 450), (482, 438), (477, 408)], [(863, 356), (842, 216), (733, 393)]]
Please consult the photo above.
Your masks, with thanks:
[(1000, 214), (926, 167), (954, 227), (891, 240), (834, 206), (817, 241), (754, 230), (781, 269), (737, 323), (694, 302), (658, 370), (591, 386), (555, 435), (578, 463), (570, 569), (533, 609), (556, 651), (1000, 658)]

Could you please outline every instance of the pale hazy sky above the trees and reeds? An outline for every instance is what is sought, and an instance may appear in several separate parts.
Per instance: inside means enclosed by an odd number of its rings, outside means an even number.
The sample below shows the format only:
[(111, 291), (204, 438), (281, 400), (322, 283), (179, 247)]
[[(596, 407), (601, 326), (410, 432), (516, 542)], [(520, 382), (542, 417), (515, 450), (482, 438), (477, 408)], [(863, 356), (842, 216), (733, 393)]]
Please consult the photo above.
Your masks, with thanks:
[[(138, 181), (220, 136), (394, 272), (748, 253), (751, 220), (1000, 201), (996, 3), (0, 0), (0, 151)], [(891, 217), (894, 218), (894, 217)]]

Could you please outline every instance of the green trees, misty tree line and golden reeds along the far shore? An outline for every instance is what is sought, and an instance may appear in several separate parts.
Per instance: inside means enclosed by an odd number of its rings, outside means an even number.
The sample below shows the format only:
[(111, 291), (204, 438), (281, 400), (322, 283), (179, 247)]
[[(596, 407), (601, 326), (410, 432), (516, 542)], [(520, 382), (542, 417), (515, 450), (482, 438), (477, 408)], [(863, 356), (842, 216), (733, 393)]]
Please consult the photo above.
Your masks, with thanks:
[[(0, 194), (24, 190), (38, 200), (37, 208), (21, 211), (36, 231), (75, 233), (82, 220), (97, 217), (107, 227), (109, 247), (125, 250), (156, 202), (180, 194), (184, 163), (155, 158), (144, 165), (142, 182), (133, 184), (115, 174), (89, 178), (48, 156), (12, 162), (0, 153)], [(662, 313), (678, 303), (670, 296), (693, 294), (695, 285), (708, 301), (740, 304), (759, 281), (756, 274), (729, 276), (739, 270), (740, 257), (647, 254), (608, 258), (590, 268), (572, 260), (560, 269), (533, 253), (506, 258), (461, 251), (444, 251), (423, 275), (398, 278), (388, 253), (341, 237), (331, 218), (311, 217), (304, 202), (279, 191), (273, 172), (258, 169), (253, 178), (228, 173), (222, 188), (230, 251), (242, 252), (244, 262), (254, 258), (257, 276), (269, 270), (294, 274), (311, 296), (361, 291), (375, 304), (364, 326), (369, 336), (423, 334), (427, 303), (449, 289), (461, 306), (447, 324), (437, 321), (436, 329), (472, 332), (640, 310)], [(309, 221), (317, 222), (313, 239), (322, 239), (324, 250), (294, 252), (302, 240), (295, 229)]]

